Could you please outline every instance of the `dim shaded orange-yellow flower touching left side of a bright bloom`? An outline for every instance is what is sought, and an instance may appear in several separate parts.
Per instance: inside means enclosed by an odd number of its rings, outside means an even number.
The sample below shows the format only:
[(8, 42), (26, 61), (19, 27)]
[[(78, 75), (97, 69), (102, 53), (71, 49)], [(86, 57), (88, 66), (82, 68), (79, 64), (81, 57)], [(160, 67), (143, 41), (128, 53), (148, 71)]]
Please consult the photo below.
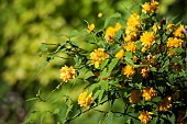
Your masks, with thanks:
[(141, 91), (140, 90), (132, 90), (129, 100), (132, 103), (140, 102), (141, 101)]

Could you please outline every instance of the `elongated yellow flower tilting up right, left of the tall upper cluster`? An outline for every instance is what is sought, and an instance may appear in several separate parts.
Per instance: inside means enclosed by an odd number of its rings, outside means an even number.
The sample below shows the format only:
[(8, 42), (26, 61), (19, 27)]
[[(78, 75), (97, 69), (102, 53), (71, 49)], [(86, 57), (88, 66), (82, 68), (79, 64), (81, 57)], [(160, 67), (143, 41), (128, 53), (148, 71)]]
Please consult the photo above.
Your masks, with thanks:
[(106, 41), (112, 42), (114, 40), (116, 33), (120, 30), (120, 27), (121, 27), (120, 23), (117, 23), (114, 27), (112, 26), (108, 27), (105, 36)]

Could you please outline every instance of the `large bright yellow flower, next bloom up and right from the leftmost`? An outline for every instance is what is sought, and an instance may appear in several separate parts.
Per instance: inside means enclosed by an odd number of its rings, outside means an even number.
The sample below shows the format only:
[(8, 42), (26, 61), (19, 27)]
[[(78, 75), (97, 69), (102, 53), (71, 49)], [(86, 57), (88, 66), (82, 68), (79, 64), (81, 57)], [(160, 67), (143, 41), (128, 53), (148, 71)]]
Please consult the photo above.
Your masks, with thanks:
[(105, 53), (103, 48), (95, 49), (90, 54), (91, 63), (95, 65), (96, 68), (98, 68), (99, 65), (102, 63), (102, 60), (108, 57), (109, 57), (109, 55), (107, 53)]

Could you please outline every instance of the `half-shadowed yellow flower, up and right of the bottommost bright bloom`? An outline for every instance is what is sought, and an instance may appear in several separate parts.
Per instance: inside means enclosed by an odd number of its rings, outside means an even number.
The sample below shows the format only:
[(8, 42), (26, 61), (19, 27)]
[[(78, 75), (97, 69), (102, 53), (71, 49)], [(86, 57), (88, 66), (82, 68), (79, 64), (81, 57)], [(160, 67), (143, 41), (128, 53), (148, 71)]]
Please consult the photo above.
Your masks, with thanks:
[(164, 98), (164, 100), (158, 102), (157, 110), (166, 112), (170, 108), (172, 108), (172, 97), (166, 97)]

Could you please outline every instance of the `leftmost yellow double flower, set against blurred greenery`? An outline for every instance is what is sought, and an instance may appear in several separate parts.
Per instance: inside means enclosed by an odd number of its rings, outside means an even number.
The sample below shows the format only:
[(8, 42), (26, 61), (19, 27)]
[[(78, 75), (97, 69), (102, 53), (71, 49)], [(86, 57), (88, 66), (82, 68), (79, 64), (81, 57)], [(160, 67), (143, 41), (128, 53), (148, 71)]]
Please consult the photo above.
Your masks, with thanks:
[(70, 79), (74, 79), (76, 76), (75, 69), (70, 66), (69, 68), (67, 66), (62, 67), (61, 69), (61, 78), (67, 82)]

